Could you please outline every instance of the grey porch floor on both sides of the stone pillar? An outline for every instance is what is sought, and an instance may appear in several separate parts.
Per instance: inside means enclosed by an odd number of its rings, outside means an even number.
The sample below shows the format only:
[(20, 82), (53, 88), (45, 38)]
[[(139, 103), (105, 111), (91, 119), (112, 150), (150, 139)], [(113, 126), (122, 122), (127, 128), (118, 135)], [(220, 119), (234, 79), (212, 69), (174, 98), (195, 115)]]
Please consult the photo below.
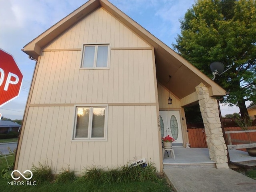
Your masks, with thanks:
[[(164, 154), (163, 165), (208, 165), (215, 167), (215, 162), (210, 159), (208, 148), (184, 148), (184, 147), (173, 147), (175, 160), (171, 157), (170, 151)], [(229, 150), (230, 161), (232, 162), (245, 162), (256, 160), (256, 157), (251, 157), (247, 152), (240, 150)]]

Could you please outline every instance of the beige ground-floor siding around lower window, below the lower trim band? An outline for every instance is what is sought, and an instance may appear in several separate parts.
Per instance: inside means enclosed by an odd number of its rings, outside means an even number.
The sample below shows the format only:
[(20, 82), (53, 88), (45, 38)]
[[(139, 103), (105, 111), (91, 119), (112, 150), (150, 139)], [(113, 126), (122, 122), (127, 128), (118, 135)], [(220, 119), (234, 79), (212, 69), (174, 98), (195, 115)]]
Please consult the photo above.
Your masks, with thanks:
[(115, 167), (141, 158), (159, 164), (156, 106), (109, 106), (108, 142), (71, 142), (72, 112), (74, 107), (29, 108), (19, 170), (39, 162), (57, 172), (70, 165), (78, 173), (86, 166)]

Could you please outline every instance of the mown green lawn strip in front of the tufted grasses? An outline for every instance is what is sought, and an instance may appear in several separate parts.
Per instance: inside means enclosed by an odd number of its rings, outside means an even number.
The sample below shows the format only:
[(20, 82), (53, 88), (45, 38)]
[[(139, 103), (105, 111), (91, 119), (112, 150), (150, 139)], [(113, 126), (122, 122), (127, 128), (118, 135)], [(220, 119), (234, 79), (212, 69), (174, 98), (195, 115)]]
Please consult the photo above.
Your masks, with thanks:
[[(14, 155), (7, 156), (8, 164), (14, 162)], [(0, 172), (7, 167), (7, 163), (4, 157), (0, 158)], [(77, 179), (76, 179), (77, 180)], [(168, 186), (168, 183), (164, 178), (160, 179), (158, 182), (128, 182), (128, 183), (115, 183), (115, 184), (98, 184), (93, 186), (88, 186), (84, 183), (78, 183), (74, 180), (70, 183), (50, 183), (42, 182), (39, 184), (13, 186), (8, 185), (8, 182), (13, 181), (12, 179), (3, 179), (0, 175), (0, 191), (1, 192), (170, 192), (172, 189)], [(21, 184), (21, 183), (20, 183)], [(31, 183), (32, 184), (32, 183)], [(34, 183), (35, 184), (35, 183)]]

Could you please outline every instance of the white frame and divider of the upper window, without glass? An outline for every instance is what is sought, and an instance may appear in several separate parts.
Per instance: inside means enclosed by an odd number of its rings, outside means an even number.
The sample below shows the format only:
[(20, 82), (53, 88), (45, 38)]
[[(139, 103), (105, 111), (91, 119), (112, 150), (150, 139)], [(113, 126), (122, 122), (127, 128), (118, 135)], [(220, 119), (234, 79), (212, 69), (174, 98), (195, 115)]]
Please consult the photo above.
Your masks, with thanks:
[[(107, 45), (108, 46), (108, 60), (107, 60), (107, 66), (106, 67), (96, 67), (96, 63), (97, 63), (97, 54), (98, 54), (98, 46), (101, 45)], [(85, 47), (86, 46), (95, 46), (95, 52), (94, 52), (94, 64), (93, 67), (83, 67), (84, 64), (84, 51), (85, 51)], [(97, 47), (97, 48), (96, 48)], [(110, 47), (111, 44), (110, 43), (94, 43), (94, 44), (84, 44), (83, 45), (83, 52), (82, 52), (82, 62), (81, 62), (81, 68), (80, 70), (88, 70), (88, 69), (110, 69)]]

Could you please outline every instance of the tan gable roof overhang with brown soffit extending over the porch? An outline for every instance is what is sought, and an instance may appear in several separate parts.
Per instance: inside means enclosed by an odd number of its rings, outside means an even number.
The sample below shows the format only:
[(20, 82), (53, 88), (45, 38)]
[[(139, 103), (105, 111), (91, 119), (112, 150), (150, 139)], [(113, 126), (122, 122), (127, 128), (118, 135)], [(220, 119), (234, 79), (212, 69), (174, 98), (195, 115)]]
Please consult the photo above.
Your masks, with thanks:
[(150, 32), (116, 8), (113, 4), (108, 2), (108, 0), (89, 0), (26, 44), (22, 51), (32, 58), (37, 59), (44, 46), (100, 7), (103, 7), (154, 47), (157, 80), (171, 90), (179, 99), (193, 94), (195, 87), (201, 82), (209, 88), (210, 96), (223, 96), (226, 94), (225, 90), (218, 86), (218, 84), (200, 72), (200, 70), (174, 52), (174, 50), (161, 42), (158, 38), (150, 34)]

